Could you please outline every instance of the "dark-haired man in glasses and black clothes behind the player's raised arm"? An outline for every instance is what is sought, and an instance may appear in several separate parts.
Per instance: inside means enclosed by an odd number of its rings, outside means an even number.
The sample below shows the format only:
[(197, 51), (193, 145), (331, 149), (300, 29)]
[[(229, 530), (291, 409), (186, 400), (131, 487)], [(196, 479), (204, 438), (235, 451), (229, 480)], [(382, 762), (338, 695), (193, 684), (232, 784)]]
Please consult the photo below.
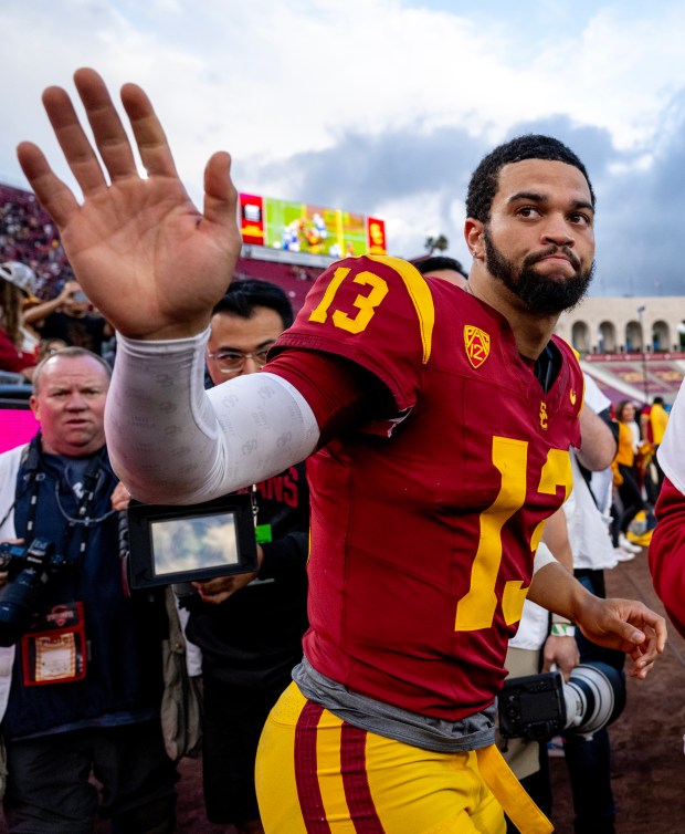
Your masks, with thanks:
[[(205, 352), (213, 385), (259, 372), (268, 348), (293, 323), (280, 286), (245, 280), (214, 306)], [(241, 834), (264, 831), (254, 761), (266, 717), (302, 659), (307, 628), (309, 492), (304, 463), (256, 483), (259, 573), (196, 586), (187, 634), (202, 650), (202, 768), (207, 815)]]

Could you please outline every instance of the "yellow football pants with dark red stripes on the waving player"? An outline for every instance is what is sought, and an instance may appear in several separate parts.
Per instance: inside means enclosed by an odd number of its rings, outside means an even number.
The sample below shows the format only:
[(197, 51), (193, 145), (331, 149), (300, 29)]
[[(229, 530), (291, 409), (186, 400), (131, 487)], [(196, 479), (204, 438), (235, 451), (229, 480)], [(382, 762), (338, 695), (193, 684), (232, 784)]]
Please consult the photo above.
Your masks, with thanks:
[(552, 831), (494, 746), (403, 744), (348, 724), (295, 684), (262, 733), (256, 789), (266, 834), (504, 834), (503, 805), (520, 831)]

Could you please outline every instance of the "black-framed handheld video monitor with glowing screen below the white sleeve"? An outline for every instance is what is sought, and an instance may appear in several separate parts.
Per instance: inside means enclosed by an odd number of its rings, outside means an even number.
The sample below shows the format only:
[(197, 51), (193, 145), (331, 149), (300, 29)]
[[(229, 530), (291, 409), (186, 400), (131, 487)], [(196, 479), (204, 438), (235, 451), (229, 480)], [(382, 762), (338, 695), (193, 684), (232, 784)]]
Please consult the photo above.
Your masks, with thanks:
[(131, 503), (128, 543), (129, 582), (135, 588), (257, 570), (247, 494), (185, 507)]

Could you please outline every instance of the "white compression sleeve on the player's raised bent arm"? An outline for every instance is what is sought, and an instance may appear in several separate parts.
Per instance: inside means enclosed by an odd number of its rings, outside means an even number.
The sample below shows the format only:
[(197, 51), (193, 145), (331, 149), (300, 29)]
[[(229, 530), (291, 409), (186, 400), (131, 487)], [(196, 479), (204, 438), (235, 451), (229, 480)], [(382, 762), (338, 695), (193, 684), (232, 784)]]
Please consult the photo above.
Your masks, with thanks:
[(316, 448), (314, 413), (285, 379), (262, 372), (204, 390), (208, 334), (157, 342), (117, 335), (107, 447), (140, 501), (217, 498), (277, 475)]

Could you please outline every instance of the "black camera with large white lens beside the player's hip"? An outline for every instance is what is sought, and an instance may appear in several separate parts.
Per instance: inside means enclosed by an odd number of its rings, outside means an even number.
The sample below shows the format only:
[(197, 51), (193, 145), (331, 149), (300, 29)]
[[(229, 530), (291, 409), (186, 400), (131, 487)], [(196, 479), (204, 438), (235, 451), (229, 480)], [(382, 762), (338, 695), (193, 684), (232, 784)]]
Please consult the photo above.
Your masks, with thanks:
[(558, 671), (507, 678), (498, 699), (499, 732), (536, 741), (561, 732), (591, 737), (624, 706), (622, 673), (599, 660), (577, 666), (568, 684)]

